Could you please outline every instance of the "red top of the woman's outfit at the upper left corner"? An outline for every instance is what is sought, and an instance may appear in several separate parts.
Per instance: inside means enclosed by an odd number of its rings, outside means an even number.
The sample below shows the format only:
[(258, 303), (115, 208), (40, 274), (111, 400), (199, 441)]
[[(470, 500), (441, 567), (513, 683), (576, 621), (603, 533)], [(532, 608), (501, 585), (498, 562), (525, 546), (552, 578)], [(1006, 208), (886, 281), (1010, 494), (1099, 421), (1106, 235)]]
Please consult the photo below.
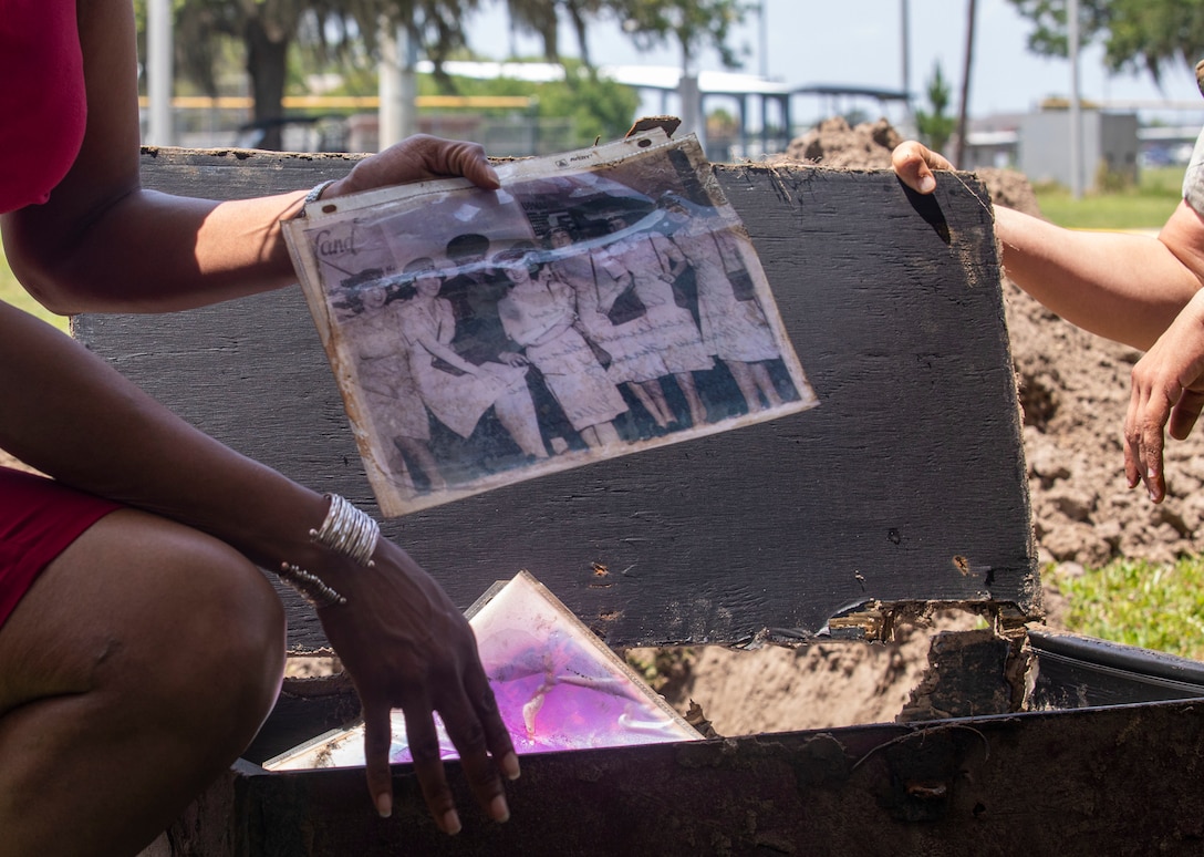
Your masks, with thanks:
[(87, 116), (75, 0), (0, 0), (0, 212), (49, 199)]

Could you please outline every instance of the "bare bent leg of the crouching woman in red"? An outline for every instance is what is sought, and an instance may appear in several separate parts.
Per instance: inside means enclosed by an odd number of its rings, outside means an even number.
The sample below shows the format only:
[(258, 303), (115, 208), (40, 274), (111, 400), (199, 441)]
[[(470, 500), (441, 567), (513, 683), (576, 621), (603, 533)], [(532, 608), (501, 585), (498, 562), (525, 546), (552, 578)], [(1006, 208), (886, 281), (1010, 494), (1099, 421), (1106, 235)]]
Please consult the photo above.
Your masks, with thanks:
[(101, 518), (0, 627), (0, 857), (132, 853), (254, 736), (284, 620), (229, 546)]

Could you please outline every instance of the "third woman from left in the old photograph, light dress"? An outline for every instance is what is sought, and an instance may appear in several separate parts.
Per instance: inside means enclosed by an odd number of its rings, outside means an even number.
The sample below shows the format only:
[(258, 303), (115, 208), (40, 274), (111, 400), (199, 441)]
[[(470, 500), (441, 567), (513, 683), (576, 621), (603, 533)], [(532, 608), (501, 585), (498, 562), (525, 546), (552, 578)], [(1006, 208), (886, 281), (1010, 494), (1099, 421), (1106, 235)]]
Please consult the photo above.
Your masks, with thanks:
[(619, 442), (614, 418), (627, 403), (589, 342), (578, 333), (577, 299), (567, 283), (541, 276), (543, 265), (523, 248), (503, 251), (494, 264), (510, 282), (497, 312), (507, 335), (543, 374), (573, 429), (590, 448)]

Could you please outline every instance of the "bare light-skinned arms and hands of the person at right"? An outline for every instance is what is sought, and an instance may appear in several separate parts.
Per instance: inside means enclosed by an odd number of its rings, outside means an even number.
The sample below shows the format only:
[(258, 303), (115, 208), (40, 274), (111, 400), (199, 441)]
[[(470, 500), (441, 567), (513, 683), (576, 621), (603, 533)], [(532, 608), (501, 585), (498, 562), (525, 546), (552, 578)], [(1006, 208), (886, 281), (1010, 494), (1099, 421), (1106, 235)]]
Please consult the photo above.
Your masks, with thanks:
[[(943, 155), (907, 141), (893, 152), (899, 180), (937, 188)], [(1167, 495), (1164, 432), (1182, 440), (1204, 409), (1204, 218), (1180, 201), (1157, 237), (1062, 229), (996, 206), (1007, 275), (1085, 330), (1147, 350), (1133, 366), (1125, 417), (1125, 475), (1150, 499)]]

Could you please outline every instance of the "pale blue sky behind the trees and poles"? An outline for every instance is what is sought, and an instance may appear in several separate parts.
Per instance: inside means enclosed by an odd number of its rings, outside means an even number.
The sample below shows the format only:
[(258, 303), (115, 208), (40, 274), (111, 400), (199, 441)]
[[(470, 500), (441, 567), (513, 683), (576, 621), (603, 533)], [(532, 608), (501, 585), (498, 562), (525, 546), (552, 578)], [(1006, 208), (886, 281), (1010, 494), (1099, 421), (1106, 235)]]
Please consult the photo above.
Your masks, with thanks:
[[(951, 111), (956, 111), (964, 65), (969, 6), (966, 0), (762, 0), (762, 4), (765, 27), (760, 25), (757, 16), (750, 16), (732, 40), (734, 46), (746, 46), (751, 51), (744, 60), (744, 71), (767, 71), (768, 77), (792, 86), (825, 83), (883, 89), (903, 88), (902, 10), (905, 5), (910, 18), (910, 89), (921, 96), (922, 104), (925, 86), (939, 61), (952, 89)], [(537, 41), (514, 40), (508, 35), (508, 19), (502, 7), (503, 4), (494, 2), (470, 23), (472, 47), (494, 59), (506, 58), (512, 47), (521, 55), (538, 53)], [(1026, 46), (1031, 29), (1007, 0), (978, 1), (970, 70), (972, 117), (1028, 112), (1049, 95), (1069, 95), (1070, 63), (1031, 53)], [(563, 31), (561, 42), (563, 53), (577, 53), (576, 36), (569, 30)], [(673, 47), (639, 54), (613, 23), (597, 25), (589, 34), (589, 46), (594, 61), (600, 65), (680, 64), (680, 53)], [(700, 69), (722, 67), (713, 52), (702, 57), (698, 65)], [(1084, 99), (1169, 100), (1188, 108), (1143, 108), (1143, 118), (1156, 117), (1186, 125), (1204, 122), (1204, 98), (1187, 67), (1164, 74), (1159, 92), (1146, 74), (1108, 75), (1103, 49), (1088, 46), (1080, 54), (1079, 77)]]

